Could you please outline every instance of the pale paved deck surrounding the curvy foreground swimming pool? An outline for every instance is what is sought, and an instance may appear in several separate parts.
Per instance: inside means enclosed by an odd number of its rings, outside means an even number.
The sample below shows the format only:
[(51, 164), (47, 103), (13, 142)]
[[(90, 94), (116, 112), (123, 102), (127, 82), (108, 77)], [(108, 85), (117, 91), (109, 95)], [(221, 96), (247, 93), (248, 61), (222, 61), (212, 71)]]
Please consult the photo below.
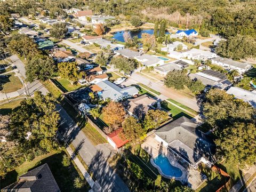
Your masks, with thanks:
[[(141, 148), (146, 150), (147, 153), (151, 156), (150, 162), (157, 168), (159, 173), (163, 175), (163, 177), (167, 179), (175, 179), (179, 180), (182, 183), (189, 183), (192, 189), (197, 189), (203, 182), (204, 179), (201, 173), (192, 167), (183, 167), (181, 164), (178, 163), (179, 157), (175, 157), (166, 147), (161, 145), (157, 140), (155, 140), (154, 133), (149, 135), (144, 142), (141, 144)], [(170, 177), (169, 175), (165, 175), (161, 168), (157, 166), (153, 159), (156, 158), (159, 154), (165, 155), (172, 166), (178, 167), (182, 171), (181, 177)]]

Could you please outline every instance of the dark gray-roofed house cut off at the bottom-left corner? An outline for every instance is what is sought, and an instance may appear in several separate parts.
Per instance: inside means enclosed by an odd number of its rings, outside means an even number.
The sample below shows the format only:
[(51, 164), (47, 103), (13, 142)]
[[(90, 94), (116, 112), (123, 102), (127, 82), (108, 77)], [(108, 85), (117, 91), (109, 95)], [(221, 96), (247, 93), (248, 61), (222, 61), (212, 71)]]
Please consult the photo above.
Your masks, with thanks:
[(19, 177), (19, 181), (2, 189), (3, 192), (60, 192), (47, 163), (28, 171)]

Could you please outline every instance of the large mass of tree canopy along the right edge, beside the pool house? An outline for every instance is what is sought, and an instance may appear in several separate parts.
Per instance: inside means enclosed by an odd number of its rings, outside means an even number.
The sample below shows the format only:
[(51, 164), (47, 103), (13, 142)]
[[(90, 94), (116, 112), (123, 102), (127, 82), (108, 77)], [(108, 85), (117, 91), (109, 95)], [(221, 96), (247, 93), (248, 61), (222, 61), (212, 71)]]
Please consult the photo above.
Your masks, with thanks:
[(218, 154), (241, 167), (251, 165), (256, 157), (255, 109), (219, 89), (209, 91), (203, 107), (217, 137)]

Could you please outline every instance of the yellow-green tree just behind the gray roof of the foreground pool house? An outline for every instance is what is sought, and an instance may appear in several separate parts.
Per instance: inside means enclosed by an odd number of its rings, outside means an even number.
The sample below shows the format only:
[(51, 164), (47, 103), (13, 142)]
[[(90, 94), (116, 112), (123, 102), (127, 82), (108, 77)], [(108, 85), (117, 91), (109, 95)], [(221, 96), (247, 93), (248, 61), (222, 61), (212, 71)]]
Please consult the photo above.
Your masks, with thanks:
[(156, 129), (161, 123), (167, 121), (169, 118), (170, 117), (166, 111), (159, 109), (149, 110), (144, 120), (145, 129), (148, 131)]

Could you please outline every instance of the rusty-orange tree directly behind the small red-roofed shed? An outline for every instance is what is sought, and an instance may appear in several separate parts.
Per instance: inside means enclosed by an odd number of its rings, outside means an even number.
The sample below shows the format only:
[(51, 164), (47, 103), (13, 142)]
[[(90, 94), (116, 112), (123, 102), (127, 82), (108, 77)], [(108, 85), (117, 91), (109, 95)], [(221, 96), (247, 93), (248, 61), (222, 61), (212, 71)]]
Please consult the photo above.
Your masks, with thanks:
[(105, 121), (109, 126), (116, 130), (121, 127), (124, 121), (125, 110), (122, 103), (110, 101), (107, 106), (103, 107), (103, 121)]

